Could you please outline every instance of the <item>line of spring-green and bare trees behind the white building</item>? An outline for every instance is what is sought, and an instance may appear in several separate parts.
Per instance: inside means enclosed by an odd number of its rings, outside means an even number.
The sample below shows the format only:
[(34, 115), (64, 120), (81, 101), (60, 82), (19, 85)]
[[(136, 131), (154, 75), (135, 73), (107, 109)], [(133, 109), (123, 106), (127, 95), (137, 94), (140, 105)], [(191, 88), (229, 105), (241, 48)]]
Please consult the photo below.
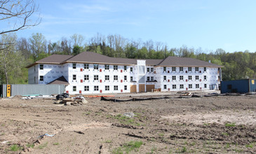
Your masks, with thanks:
[(18, 38), (15, 33), (1, 34), (0, 41), (0, 84), (27, 83), (28, 73), (25, 66), (53, 54), (77, 55), (80, 52), (97, 52), (109, 57), (132, 59), (164, 59), (168, 56), (191, 57), (224, 66), (223, 80), (255, 78), (256, 52), (248, 50), (225, 52), (221, 48), (215, 51), (203, 51), (201, 48), (169, 48), (159, 41), (142, 41), (124, 38), (121, 35), (95, 34), (84, 38), (74, 34), (60, 41), (46, 40), (43, 34), (32, 34), (29, 38)]

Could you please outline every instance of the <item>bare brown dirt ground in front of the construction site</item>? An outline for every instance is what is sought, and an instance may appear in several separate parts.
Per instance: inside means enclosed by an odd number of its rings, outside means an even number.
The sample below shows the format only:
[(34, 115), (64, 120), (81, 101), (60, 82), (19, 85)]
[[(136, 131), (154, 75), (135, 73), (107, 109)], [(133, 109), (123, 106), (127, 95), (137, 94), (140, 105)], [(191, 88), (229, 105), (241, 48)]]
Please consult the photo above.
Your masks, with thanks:
[(87, 100), (0, 99), (0, 153), (256, 153), (256, 95)]

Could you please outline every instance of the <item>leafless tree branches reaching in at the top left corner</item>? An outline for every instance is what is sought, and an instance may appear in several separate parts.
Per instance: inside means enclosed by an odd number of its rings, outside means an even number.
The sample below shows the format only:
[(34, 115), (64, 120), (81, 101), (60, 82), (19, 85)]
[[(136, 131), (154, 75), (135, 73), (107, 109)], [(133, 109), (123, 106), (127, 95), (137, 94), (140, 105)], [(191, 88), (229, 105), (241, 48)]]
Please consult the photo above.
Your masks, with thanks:
[(0, 24), (1, 22), (8, 22), (10, 24), (9, 29), (0, 30), (0, 35), (39, 25), (41, 18), (31, 20), (32, 14), (37, 9), (38, 6), (36, 6), (34, 0), (0, 1)]

